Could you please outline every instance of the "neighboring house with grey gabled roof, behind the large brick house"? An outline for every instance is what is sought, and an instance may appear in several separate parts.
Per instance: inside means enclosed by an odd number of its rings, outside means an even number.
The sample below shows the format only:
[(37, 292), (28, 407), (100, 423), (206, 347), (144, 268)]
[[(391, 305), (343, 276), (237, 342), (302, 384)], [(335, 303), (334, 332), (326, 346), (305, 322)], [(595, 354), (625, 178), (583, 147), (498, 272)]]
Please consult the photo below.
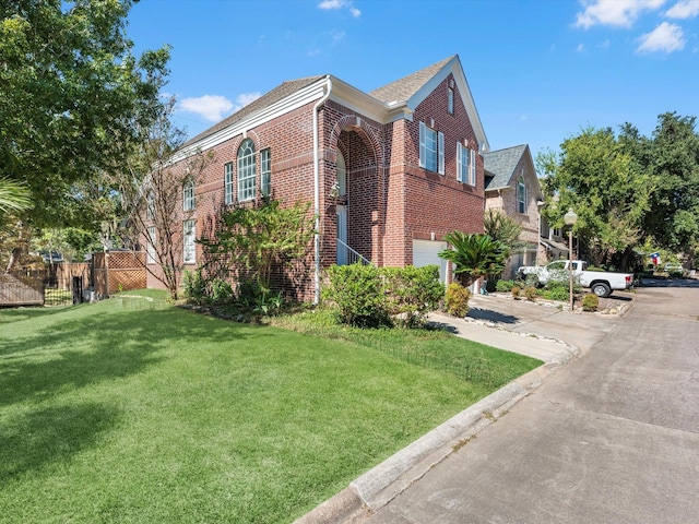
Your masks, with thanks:
[(520, 266), (544, 262), (542, 188), (526, 144), (486, 153), (484, 162), (486, 210), (499, 210), (522, 226), (523, 248), (512, 253), (502, 272), (503, 278), (512, 278)]

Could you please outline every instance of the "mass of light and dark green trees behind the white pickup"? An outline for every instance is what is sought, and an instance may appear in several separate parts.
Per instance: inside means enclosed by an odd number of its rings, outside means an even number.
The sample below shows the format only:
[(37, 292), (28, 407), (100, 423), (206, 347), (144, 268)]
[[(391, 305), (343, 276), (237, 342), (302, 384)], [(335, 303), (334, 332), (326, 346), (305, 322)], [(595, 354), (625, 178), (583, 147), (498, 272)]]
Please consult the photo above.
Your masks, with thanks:
[(557, 155), (540, 154), (546, 200), (543, 215), (564, 226), (578, 214), (574, 236), (594, 263), (628, 267), (633, 248), (647, 241), (691, 251), (699, 241), (699, 136), (695, 119), (659, 117), (651, 138), (630, 123), (583, 129)]

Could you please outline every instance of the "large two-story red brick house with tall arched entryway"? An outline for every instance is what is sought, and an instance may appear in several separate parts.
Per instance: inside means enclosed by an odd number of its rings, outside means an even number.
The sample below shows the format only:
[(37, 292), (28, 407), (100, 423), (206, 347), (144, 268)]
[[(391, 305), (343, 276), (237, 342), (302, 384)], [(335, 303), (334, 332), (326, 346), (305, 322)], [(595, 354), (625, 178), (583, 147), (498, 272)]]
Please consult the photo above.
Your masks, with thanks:
[(308, 276), (286, 291), (315, 301), (324, 267), (359, 259), (437, 264), (445, 281), (443, 236), (483, 231), (488, 143), (458, 56), (370, 93), (332, 75), (284, 82), (191, 139), (173, 167), (198, 151), (213, 162), (193, 199), (182, 191), (194, 207), (182, 228), (186, 269), (198, 266), (194, 238), (216, 213), (265, 195), (312, 203)]

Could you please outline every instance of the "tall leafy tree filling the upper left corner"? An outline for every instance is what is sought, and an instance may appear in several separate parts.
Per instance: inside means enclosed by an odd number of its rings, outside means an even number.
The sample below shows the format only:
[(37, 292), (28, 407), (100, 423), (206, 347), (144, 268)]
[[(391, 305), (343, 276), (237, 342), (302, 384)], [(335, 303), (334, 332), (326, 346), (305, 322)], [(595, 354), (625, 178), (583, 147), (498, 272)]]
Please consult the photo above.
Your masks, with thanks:
[(0, 176), (25, 183), (35, 225), (92, 222), (74, 183), (122, 158), (152, 118), (167, 48), (132, 53), (134, 0), (0, 2)]

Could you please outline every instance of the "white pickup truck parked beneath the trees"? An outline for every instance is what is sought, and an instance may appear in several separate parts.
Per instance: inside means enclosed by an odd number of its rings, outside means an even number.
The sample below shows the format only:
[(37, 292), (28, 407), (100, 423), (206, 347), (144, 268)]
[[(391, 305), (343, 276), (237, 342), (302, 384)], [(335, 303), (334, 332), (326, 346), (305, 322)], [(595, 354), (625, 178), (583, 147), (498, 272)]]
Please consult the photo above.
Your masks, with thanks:
[[(633, 275), (631, 274), (587, 271), (587, 262), (581, 260), (572, 261), (572, 274), (576, 283), (582, 287), (589, 287), (599, 297), (606, 298), (612, 295), (613, 289), (628, 289), (633, 284)], [(517, 273), (522, 278), (534, 274), (542, 285), (550, 279), (566, 282), (570, 277), (567, 260), (557, 260), (547, 265), (524, 265), (517, 270)]]

